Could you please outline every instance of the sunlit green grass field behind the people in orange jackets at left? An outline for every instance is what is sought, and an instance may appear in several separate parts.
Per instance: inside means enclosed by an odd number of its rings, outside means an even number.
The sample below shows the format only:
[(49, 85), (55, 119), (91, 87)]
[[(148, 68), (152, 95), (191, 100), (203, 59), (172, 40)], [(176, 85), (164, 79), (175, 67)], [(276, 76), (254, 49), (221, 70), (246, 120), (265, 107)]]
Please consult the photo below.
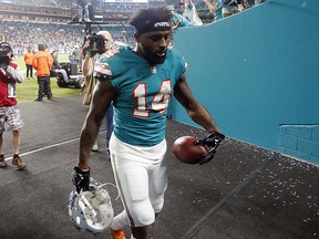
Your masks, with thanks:
[[(69, 61), (69, 58), (68, 55), (59, 55), (59, 61), (60, 62)], [(24, 73), (25, 76), (25, 64), (23, 58), (16, 58), (13, 62), (19, 65), (20, 70)], [(51, 77), (51, 90), (53, 93), (53, 97), (66, 97), (80, 94), (80, 89), (59, 87), (55, 77)], [(33, 79), (27, 80), (25, 76), (24, 82), (22, 82), (21, 84), (17, 84), (17, 100), (18, 103), (23, 103), (33, 101), (34, 98), (37, 98), (37, 96), (38, 96), (38, 82), (33, 69)]]

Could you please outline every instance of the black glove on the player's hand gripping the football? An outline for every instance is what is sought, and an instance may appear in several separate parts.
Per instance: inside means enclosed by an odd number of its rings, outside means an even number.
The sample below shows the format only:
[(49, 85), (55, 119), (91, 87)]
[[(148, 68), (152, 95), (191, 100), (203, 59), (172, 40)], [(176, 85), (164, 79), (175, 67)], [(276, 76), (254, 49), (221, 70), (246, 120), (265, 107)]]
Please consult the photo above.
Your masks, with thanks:
[(203, 145), (208, 149), (208, 154), (199, 160), (199, 165), (206, 164), (215, 157), (217, 148), (224, 138), (224, 134), (213, 131), (208, 137), (195, 142), (196, 145)]

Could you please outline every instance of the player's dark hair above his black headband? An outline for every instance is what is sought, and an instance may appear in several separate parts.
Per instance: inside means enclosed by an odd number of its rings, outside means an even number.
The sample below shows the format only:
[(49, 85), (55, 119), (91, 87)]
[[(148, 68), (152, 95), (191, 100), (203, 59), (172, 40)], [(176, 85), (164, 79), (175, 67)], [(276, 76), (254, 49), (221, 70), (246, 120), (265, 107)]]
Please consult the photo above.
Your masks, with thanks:
[(137, 32), (154, 22), (172, 22), (172, 14), (166, 7), (138, 9), (128, 21)]

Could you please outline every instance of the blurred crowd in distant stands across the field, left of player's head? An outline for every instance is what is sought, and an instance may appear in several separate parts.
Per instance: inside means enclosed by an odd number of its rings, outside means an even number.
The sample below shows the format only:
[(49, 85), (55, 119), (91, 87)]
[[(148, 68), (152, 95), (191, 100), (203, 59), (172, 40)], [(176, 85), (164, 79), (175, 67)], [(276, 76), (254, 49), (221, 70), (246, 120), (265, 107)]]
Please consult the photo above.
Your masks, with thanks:
[[(117, 27), (101, 27), (111, 32), (115, 41), (133, 42), (133, 29)], [(94, 27), (92, 32), (97, 32), (100, 27)], [(59, 54), (70, 54), (75, 45), (81, 46), (84, 41), (84, 30), (82, 25), (59, 24), (59, 23), (34, 23), (0, 21), (0, 32), (6, 35), (6, 41), (11, 43), (14, 55), (22, 56), (27, 49), (38, 51), (38, 44), (44, 43), (49, 51), (58, 50)]]

